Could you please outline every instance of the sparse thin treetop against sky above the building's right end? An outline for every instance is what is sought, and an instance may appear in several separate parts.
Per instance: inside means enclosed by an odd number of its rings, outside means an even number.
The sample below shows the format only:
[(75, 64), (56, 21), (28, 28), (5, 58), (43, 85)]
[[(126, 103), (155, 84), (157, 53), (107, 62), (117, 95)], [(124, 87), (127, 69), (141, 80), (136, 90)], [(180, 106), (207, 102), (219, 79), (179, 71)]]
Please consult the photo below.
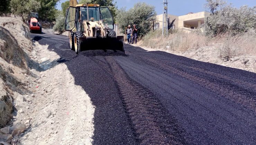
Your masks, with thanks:
[(212, 14), (219, 8), (226, 4), (225, 0), (206, 0), (204, 7), (208, 9)]

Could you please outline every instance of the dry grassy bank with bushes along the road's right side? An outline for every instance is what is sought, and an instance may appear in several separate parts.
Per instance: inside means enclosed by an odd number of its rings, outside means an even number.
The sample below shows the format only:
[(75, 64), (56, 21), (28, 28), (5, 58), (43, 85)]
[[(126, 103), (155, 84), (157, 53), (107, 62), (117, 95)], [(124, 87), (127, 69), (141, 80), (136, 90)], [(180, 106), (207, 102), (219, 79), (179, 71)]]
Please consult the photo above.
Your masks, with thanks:
[(150, 31), (140, 42), (145, 48), (256, 72), (256, 7), (240, 8), (222, 0), (207, 0), (211, 14), (202, 29)]

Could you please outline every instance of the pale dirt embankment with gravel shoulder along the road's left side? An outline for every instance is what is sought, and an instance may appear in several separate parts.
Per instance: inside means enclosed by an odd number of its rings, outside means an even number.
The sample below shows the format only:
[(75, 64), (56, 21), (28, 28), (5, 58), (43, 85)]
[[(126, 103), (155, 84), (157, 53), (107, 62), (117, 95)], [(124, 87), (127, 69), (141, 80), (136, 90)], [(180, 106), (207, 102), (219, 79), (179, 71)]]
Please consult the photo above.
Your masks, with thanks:
[(0, 18), (0, 144), (91, 144), (94, 107), (60, 57)]

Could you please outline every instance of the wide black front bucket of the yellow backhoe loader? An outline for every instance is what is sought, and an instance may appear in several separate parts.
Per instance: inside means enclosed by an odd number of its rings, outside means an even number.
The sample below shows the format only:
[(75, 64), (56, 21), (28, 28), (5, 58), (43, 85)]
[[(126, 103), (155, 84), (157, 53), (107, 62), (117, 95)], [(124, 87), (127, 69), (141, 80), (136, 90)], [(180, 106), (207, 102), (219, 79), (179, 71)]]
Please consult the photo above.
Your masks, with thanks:
[(83, 50), (120, 50), (124, 52), (124, 36), (79, 37), (80, 51)]

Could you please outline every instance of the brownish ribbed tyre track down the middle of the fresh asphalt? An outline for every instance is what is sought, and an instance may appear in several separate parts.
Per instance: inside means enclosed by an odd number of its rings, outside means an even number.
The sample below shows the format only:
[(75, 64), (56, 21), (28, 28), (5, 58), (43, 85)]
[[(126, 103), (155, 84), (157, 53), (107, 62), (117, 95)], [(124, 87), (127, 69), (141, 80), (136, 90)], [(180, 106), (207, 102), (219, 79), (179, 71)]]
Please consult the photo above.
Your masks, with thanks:
[[(93, 60), (106, 66), (104, 61)], [(131, 80), (111, 57), (105, 57), (105, 60), (109, 66), (106, 70), (117, 83), (140, 144), (188, 144), (184, 129), (167, 113), (157, 97)]]

